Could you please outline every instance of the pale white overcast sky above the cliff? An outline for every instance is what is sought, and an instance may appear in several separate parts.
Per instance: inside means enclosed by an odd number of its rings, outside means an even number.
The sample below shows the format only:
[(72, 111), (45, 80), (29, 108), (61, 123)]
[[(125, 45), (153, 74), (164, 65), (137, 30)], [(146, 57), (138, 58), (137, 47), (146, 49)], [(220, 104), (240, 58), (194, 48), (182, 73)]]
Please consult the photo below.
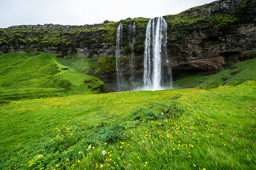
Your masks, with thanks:
[(213, 0), (0, 0), (0, 28), (11, 25), (84, 25), (178, 14)]

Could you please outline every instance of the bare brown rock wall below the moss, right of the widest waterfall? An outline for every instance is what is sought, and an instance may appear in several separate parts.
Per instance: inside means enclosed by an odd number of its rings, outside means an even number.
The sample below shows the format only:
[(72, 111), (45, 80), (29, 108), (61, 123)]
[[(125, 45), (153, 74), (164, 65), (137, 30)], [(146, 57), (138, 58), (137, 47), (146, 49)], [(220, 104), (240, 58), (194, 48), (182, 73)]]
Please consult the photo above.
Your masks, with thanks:
[[(222, 29), (228, 32), (229, 28)], [(256, 50), (255, 35), (255, 24), (241, 24), (228, 33), (208, 29), (172, 37), (168, 41), (168, 54), (174, 77), (213, 74), (243, 61), (245, 53)]]

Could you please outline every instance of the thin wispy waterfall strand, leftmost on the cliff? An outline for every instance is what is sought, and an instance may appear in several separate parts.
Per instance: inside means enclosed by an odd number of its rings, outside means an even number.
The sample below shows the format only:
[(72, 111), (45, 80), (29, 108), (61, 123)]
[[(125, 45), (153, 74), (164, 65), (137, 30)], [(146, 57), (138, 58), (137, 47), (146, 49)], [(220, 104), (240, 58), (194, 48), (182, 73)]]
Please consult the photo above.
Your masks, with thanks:
[(117, 28), (117, 40), (115, 46), (115, 65), (117, 70), (117, 86), (118, 91), (120, 91), (120, 82), (122, 80), (121, 68), (120, 68), (120, 57), (121, 57), (121, 45), (122, 45), (122, 36), (123, 36), (123, 23), (120, 22)]

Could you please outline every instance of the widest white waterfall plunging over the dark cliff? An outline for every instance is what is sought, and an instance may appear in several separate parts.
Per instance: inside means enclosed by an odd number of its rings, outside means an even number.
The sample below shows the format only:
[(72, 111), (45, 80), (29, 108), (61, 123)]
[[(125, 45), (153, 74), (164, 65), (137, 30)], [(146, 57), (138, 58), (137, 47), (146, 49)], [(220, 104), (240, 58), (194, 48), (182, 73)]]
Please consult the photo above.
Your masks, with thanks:
[(171, 67), (167, 59), (167, 22), (151, 19), (146, 28), (143, 82), (146, 90), (172, 88)]

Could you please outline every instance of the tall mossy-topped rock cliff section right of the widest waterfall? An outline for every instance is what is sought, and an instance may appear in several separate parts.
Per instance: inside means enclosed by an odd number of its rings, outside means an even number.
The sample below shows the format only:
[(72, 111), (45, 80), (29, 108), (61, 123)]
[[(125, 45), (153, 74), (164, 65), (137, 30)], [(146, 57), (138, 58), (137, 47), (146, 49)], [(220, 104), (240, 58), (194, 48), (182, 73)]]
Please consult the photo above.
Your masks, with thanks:
[(255, 1), (215, 1), (181, 12), (169, 23), (168, 53), (174, 76), (213, 74), (249, 59), (256, 50)]

